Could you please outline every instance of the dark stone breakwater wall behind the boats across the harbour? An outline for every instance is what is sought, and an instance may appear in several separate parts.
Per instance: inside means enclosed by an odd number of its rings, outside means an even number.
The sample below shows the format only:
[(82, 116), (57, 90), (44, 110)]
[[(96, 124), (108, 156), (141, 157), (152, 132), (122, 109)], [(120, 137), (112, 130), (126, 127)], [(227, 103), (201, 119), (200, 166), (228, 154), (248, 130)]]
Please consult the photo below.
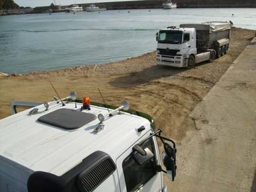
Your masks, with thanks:
[[(127, 9), (161, 9), (165, 0), (145, 0), (145, 1), (119, 1), (119, 2), (102, 2), (94, 3), (96, 6), (106, 8), (107, 10), (127, 10)], [(256, 7), (255, 0), (174, 0), (177, 3), (178, 8), (253, 8)], [(85, 9), (90, 6), (90, 3), (79, 4), (79, 6)], [(68, 5), (64, 6), (40, 6), (28, 9), (11, 9), (0, 10), (0, 15), (10, 14), (33, 14), (33, 13), (45, 13), (49, 12), (64, 12), (64, 9)]]

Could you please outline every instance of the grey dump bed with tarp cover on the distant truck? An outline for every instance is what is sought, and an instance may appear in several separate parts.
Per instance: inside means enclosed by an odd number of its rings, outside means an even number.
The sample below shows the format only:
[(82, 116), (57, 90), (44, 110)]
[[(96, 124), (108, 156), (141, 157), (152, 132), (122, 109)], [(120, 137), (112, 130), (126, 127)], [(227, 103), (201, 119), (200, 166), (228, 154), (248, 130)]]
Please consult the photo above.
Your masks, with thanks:
[(195, 28), (198, 49), (214, 49), (220, 39), (230, 39), (230, 22), (204, 22), (201, 24), (181, 24), (180, 28)]

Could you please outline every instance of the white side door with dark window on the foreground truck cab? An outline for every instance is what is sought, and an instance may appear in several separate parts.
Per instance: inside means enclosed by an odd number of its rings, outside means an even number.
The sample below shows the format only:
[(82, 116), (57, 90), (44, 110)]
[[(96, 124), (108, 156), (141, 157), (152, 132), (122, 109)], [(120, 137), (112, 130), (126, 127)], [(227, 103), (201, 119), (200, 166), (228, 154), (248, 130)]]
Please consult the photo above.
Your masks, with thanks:
[[(153, 133), (149, 131), (140, 138), (134, 145), (145, 139)], [(125, 151), (117, 159), (117, 169), (119, 175), (120, 190), (125, 192), (159, 192), (162, 190), (162, 173), (157, 172), (156, 165), (160, 164), (160, 156), (158, 153), (157, 140), (155, 137), (145, 141), (141, 146), (143, 149), (149, 148), (154, 157), (150, 162), (139, 165), (137, 164), (131, 153), (133, 146)]]

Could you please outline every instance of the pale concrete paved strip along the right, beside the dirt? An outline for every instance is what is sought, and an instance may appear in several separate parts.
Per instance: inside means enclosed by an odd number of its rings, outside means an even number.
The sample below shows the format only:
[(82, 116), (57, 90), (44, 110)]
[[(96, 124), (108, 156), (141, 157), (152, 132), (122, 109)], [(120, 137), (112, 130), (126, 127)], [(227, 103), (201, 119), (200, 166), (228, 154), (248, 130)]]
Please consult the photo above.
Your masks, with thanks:
[(171, 191), (256, 191), (256, 37), (192, 111)]

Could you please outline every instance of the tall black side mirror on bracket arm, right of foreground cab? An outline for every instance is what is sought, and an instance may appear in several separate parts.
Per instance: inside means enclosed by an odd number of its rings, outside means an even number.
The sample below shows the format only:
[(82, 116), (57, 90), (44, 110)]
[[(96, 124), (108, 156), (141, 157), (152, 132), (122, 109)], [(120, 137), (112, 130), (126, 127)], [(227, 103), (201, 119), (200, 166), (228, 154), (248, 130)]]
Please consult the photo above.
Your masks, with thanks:
[(176, 149), (168, 143), (164, 143), (165, 152), (162, 153), (162, 162), (166, 167), (166, 173), (170, 180), (174, 181), (176, 176)]

